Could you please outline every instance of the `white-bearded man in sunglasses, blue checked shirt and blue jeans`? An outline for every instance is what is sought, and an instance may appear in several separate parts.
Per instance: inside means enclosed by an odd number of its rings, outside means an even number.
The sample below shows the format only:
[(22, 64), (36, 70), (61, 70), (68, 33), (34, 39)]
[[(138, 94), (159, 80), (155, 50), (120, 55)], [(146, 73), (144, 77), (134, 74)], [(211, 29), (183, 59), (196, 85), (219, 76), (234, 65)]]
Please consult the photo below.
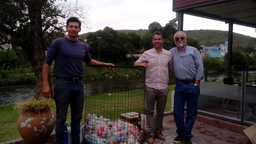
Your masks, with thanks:
[[(188, 46), (186, 34), (178, 31), (174, 35), (177, 47), (169, 51), (173, 55), (173, 67), (176, 77), (174, 94), (174, 120), (177, 126), (178, 136), (174, 143), (185, 142), (192, 144), (191, 134), (197, 117), (198, 97), (200, 94), (200, 80), (204, 76), (202, 57), (198, 50)], [(187, 117), (184, 122), (184, 105), (187, 101)]]

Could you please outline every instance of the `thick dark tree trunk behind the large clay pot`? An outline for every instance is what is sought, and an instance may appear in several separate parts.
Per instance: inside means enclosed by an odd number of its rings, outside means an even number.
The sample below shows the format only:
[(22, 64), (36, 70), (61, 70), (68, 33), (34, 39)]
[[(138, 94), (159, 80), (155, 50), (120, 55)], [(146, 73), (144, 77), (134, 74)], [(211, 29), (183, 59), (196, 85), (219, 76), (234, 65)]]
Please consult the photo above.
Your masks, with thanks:
[(45, 60), (45, 51), (43, 46), (42, 33), (42, 6), (46, 0), (27, 0), (30, 31), (29, 31), (29, 48), (25, 50), (31, 61), (36, 78), (36, 95), (35, 98), (43, 96), (42, 69)]

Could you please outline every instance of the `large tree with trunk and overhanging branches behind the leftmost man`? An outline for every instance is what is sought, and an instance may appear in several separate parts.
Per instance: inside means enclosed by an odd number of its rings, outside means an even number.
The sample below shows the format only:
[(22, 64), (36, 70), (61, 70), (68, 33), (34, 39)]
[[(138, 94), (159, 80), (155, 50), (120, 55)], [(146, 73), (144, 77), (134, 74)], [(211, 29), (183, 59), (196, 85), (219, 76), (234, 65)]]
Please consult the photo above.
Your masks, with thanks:
[[(61, 0), (5, 0), (0, 1), (0, 43), (20, 46), (28, 56), (36, 79), (36, 95), (42, 95), (42, 68), (47, 50), (46, 33), (64, 32), (68, 17), (85, 18), (77, 4), (67, 5)], [(49, 43), (49, 42), (48, 42)]]

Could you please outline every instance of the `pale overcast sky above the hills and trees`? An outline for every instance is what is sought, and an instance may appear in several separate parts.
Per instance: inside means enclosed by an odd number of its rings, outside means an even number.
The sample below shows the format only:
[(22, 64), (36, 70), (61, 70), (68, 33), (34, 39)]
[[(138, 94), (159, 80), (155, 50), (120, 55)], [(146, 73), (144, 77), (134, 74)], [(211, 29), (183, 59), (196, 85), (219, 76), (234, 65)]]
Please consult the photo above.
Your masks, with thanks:
[[(152, 22), (165, 26), (176, 17), (172, 11), (172, 0), (81, 0), (89, 22), (80, 34), (102, 30), (106, 26), (114, 30), (148, 29)], [(225, 22), (184, 15), (183, 30), (224, 30)], [(256, 37), (255, 28), (234, 25), (233, 32)]]

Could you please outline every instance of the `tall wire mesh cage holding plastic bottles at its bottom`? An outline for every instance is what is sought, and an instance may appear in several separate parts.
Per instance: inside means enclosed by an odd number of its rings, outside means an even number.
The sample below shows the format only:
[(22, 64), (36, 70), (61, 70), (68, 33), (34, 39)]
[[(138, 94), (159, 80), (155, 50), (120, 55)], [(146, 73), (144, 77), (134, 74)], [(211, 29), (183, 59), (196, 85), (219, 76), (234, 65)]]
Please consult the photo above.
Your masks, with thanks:
[(139, 144), (144, 138), (145, 69), (86, 66), (85, 136), (88, 144)]

